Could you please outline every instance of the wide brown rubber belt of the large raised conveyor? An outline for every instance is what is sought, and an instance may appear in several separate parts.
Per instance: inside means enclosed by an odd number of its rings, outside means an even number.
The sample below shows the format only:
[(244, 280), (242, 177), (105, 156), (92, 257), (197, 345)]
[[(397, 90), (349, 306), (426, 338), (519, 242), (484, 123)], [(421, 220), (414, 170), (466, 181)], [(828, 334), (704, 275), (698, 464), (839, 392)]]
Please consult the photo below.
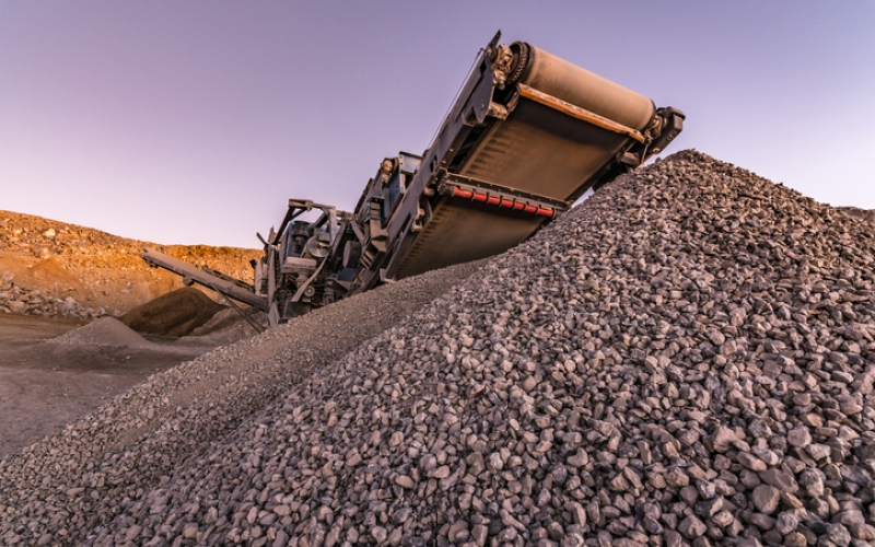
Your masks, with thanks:
[[(640, 131), (653, 102), (621, 85), (526, 45), (516, 83)], [(573, 200), (630, 142), (619, 135), (536, 101), (517, 97), (506, 119), (491, 119), (455, 172), (511, 189)], [(568, 203), (570, 205), (570, 203)], [(492, 256), (528, 238), (542, 217), (441, 198), (434, 214), (404, 253), (397, 277)]]

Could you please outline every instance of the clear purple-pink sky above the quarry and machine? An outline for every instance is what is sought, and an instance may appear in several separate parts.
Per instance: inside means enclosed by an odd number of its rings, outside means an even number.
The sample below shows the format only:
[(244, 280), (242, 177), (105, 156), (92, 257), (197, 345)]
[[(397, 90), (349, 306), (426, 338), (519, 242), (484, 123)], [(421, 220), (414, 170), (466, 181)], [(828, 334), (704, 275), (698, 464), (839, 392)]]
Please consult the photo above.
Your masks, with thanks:
[(875, 208), (871, 0), (0, 0), (0, 209), (257, 247), (421, 153), (498, 28), (682, 109), (668, 152)]

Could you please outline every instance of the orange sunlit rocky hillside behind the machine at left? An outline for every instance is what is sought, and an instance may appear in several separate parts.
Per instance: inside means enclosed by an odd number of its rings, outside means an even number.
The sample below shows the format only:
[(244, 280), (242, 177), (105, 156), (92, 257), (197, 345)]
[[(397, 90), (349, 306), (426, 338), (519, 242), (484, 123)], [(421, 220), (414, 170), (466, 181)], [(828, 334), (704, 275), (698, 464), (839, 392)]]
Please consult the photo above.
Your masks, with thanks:
[(158, 245), (31, 214), (0, 211), (0, 313), (89, 318), (119, 314), (182, 287), (139, 257), (153, 247), (195, 266), (252, 278), (260, 249)]

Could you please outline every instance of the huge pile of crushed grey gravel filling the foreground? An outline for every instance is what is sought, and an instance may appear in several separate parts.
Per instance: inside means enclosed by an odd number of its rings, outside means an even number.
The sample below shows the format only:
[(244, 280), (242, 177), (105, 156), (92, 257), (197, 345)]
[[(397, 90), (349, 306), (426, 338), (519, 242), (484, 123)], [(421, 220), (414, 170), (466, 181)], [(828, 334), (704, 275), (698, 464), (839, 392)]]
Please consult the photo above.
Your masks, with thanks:
[(873, 259), (868, 223), (680, 152), (436, 300), (464, 276), (217, 350), (3, 459), (0, 539), (871, 545)]

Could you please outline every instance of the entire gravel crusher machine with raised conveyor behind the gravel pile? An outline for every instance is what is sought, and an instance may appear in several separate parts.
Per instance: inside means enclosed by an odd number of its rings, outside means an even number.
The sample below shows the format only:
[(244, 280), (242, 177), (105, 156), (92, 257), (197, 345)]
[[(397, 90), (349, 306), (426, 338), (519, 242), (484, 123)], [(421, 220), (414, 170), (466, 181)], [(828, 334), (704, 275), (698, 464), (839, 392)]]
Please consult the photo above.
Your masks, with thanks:
[[(259, 235), (253, 284), (150, 249), (143, 258), (267, 311), (273, 326), (380, 283), (502, 253), (681, 131), (680, 110), (500, 37), (428, 150), (383, 160), (352, 212), (290, 200), (279, 229)], [(308, 211), (320, 214), (301, 220)]]

